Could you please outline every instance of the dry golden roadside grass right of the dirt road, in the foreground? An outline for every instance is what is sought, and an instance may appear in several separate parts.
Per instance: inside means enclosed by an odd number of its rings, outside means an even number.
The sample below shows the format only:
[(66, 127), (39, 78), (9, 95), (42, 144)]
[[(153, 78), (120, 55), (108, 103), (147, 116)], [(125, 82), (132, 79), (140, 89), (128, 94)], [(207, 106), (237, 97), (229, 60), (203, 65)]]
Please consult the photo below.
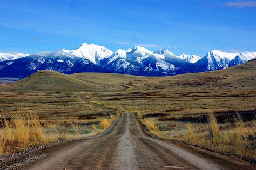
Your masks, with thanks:
[[(140, 121), (145, 126), (149, 126), (146, 123), (152, 124), (157, 119), (145, 118)], [(225, 123), (218, 123), (213, 112), (207, 114), (207, 119), (207, 123), (159, 121), (155, 124), (158, 130), (148, 129), (150, 133), (161, 138), (183, 141), (221, 153), (235, 154), (255, 162), (255, 120), (244, 122), (241, 115), (237, 113), (234, 118), (226, 120)]]

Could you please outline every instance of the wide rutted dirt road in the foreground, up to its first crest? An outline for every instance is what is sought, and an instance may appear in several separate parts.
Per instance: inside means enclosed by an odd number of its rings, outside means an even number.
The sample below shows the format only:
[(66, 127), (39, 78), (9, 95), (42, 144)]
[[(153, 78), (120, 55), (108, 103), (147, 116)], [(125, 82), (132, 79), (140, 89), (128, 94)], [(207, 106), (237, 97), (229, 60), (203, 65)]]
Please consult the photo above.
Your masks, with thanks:
[(123, 113), (111, 132), (45, 151), (24, 169), (256, 169), (245, 161), (150, 137)]

